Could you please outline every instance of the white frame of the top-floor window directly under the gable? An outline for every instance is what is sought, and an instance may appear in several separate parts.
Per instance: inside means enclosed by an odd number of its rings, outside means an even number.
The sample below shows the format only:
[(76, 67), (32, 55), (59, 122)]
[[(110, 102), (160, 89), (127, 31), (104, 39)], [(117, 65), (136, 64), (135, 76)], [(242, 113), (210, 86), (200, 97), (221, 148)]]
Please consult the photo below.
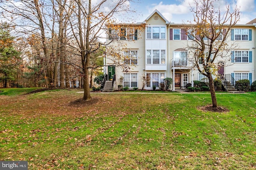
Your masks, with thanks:
[[(156, 31), (158, 29), (158, 31)], [(158, 38), (154, 38), (154, 34), (158, 34)], [(148, 26), (146, 27), (146, 39), (166, 39), (166, 27)]]

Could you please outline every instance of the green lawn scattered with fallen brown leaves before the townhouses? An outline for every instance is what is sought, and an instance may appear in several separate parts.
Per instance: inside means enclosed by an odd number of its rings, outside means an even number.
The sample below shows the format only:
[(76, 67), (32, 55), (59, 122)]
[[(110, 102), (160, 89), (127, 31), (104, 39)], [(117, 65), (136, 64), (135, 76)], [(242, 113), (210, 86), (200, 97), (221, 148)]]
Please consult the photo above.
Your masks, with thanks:
[[(2, 90), (2, 89), (0, 89)], [(37, 169), (255, 169), (256, 92), (0, 96), (0, 160)]]

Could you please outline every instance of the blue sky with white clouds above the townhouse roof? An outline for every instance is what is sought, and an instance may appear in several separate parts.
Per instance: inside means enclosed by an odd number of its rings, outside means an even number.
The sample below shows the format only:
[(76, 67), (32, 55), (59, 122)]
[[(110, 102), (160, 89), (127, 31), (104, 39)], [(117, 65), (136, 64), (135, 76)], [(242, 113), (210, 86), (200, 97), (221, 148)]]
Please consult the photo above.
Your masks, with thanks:
[[(193, 19), (190, 12), (190, 5), (194, 0), (140, 0), (138, 3), (131, 3), (132, 9), (137, 11), (136, 22), (144, 21), (155, 9), (157, 9), (168, 21), (174, 23), (185, 23)], [(240, 7), (240, 24), (246, 24), (256, 18), (256, 4), (254, 0), (219, 0), (216, 7), (225, 10), (225, 4), (231, 8)]]

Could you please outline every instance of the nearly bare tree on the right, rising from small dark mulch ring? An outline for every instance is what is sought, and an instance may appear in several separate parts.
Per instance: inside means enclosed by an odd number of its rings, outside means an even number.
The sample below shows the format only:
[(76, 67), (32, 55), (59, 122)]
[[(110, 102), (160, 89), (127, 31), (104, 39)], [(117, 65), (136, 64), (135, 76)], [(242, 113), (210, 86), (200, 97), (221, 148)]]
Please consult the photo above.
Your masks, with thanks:
[(227, 37), (240, 18), (238, 8), (231, 10), (227, 5), (226, 11), (221, 13), (214, 8), (215, 2), (196, 0), (196, 7), (191, 7), (195, 23), (186, 25), (186, 34), (192, 40), (187, 47), (188, 58), (209, 80), (212, 107), (217, 107), (213, 75), (218, 70), (218, 59), (230, 60), (232, 45), (227, 44)]

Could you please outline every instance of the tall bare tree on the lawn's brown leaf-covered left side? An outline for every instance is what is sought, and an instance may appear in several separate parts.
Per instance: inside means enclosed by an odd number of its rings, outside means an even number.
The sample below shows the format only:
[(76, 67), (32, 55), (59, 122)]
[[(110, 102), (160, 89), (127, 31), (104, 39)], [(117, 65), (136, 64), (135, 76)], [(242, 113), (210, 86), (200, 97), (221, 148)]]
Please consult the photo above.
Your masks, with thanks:
[[(109, 23), (114, 14), (128, 12), (127, 0), (100, 0), (94, 2), (92, 0), (74, 0), (72, 6), (74, 14), (69, 16), (70, 27), (76, 39), (76, 46), (81, 57), (82, 77), (84, 86), (84, 100), (91, 100), (89, 87), (89, 69), (90, 58), (92, 53), (97, 53), (101, 46), (106, 45), (100, 43), (99, 38), (105, 24)], [(109, 4), (112, 4), (111, 6)], [(109, 10), (103, 10), (104, 6), (108, 6)]]

